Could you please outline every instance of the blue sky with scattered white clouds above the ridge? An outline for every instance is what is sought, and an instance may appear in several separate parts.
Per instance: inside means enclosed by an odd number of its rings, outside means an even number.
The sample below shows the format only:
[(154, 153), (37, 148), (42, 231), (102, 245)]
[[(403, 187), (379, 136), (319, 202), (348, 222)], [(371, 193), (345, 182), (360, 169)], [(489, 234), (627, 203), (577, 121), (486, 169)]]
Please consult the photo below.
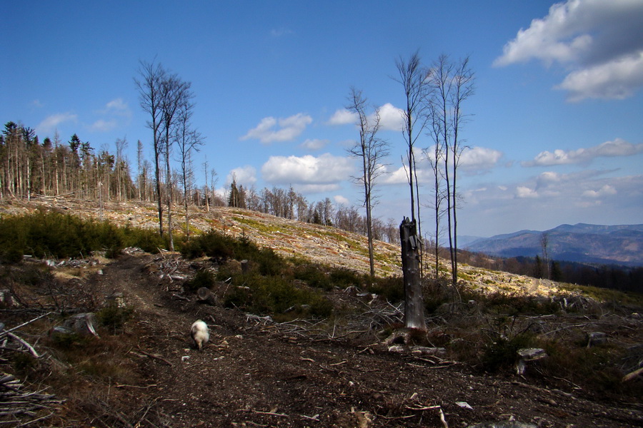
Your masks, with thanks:
[[(293, 187), (361, 205), (349, 88), (390, 148), (374, 214), (409, 215), (395, 60), (470, 56), (459, 234), (643, 223), (643, 1), (11, 1), (0, 26), (0, 120), (77, 133), (151, 160), (139, 61), (192, 84), (193, 125), (224, 188)], [(429, 137), (417, 143), (432, 145)], [(426, 168), (420, 162), (419, 168)], [(429, 202), (430, 185), (421, 188)], [(424, 208), (427, 216), (430, 208)], [(430, 221), (427, 218), (425, 221)]]

